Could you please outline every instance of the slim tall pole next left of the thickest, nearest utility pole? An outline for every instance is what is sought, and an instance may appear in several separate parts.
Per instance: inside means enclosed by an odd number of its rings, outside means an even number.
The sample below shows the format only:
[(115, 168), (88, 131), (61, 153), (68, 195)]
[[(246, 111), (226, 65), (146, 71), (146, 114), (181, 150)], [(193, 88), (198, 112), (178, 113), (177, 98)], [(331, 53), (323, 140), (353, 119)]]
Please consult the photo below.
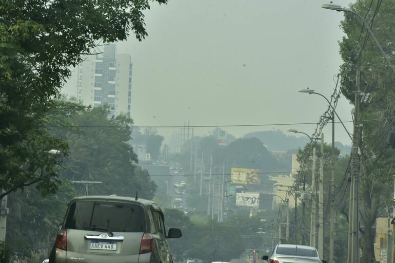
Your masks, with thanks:
[(330, 233), (329, 233), (329, 263), (334, 263), (334, 111), (332, 111), (332, 152), (330, 157)]

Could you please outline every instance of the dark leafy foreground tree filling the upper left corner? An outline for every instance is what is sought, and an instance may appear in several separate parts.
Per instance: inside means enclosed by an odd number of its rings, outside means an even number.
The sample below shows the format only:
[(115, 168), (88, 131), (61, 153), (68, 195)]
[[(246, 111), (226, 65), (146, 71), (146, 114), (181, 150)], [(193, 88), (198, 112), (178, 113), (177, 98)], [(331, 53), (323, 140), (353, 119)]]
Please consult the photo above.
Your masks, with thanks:
[(67, 145), (45, 128), (51, 99), (82, 55), (126, 40), (130, 32), (144, 39), (147, 9), (148, 0), (0, 2), (0, 184), (5, 194), (37, 182), (44, 192), (54, 191), (50, 178), (56, 178), (51, 171), (56, 162), (46, 153), (60, 149), (67, 156)]

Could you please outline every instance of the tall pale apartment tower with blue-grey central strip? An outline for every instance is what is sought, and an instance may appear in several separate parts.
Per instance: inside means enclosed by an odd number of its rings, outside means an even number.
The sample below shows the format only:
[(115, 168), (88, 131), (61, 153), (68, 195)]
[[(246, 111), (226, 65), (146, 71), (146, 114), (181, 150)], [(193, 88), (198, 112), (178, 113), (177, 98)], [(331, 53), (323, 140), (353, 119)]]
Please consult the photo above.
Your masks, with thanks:
[(115, 45), (104, 52), (89, 55), (78, 65), (77, 99), (84, 105), (108, 105), (111, 113), (130, 117), (132, 63), (129, 54), (117, 54)]

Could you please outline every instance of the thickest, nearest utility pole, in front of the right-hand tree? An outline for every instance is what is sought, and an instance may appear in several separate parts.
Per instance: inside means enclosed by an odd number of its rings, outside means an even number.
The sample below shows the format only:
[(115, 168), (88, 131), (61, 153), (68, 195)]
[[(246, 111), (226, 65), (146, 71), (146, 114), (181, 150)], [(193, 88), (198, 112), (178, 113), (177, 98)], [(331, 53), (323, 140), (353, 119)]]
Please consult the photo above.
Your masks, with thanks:
[(348, 249), (347, 263), (357, 263), (359, 259), (359, 158), (358, 158), (358, 135), (359, 135), (359, 95), (360, 95), (360, 75), (361, 68), (357, 67), (357, 91), (355, 92), (354, 102), (354, 130), (352, 133), (352, 152), (351, 152), (351, 185), (349, 199), (348, 216)]

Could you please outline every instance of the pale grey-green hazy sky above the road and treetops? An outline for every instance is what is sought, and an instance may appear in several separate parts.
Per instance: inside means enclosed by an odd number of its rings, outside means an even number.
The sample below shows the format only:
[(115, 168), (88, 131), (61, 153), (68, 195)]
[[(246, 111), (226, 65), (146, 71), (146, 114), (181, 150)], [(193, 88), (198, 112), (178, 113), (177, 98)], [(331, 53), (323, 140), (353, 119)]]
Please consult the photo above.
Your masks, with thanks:
[[(322, 0), (169, 0), (146, 12), (149, 36), (130, 36), (118, 53), (133, 62), (131, 114), (136, 125), (232, 125), (317, 122), (327, 103), (303, 87), (330, 96), (341, 59), (342, 12)], [(346, 6), (350, 1), (339, 0)], [(341, 98), (337, 112), (351, 120)], [(227, 127), (236, 137), (256, 130), (315, 125)], [(347, 128), (352, 132), (352, 125)], [(195, 128), (207, 135), (210, 128)], [(161, 128), (169, 139), (176, 129)], [(324, 129), (330, 141), (330, 126)], [(335, 140), (350, 144), (337, 124)]]

